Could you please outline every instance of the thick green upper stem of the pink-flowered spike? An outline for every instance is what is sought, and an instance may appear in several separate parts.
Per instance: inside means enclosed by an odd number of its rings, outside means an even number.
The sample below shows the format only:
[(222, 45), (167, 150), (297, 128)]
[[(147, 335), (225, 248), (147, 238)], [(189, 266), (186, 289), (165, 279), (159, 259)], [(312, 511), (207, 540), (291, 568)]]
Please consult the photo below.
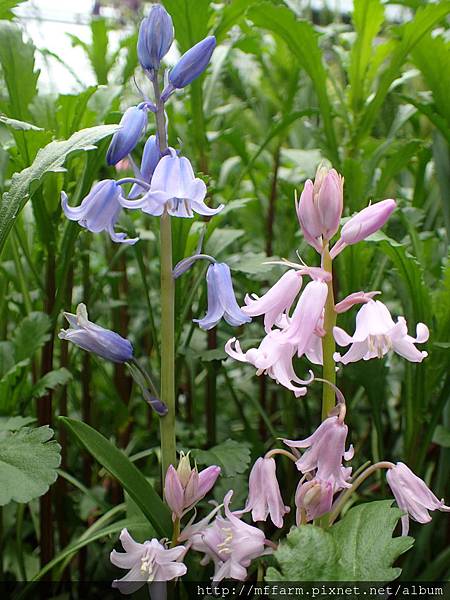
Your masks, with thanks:
[[(328, 250), (328, 245), (323, 251), (322, 268), (333, 275), (333, 261)], [(325, 315), (323, 327), (326, 334), (322, 338), (323, 352), (323, 379), (326, 379), (333, 385), (336, 384), (336, 367), (333, 354), (336, 350), (333, 337), (333, 327), (336, 325), (336, 312), (334, 310), (333, 279), (328, 282), (328, 296), (325, 303)], [(322, 420), (328, 417), (328, 413), (335, 405), (335, 392), (333, 388), (326, 383), (322, 388)]]

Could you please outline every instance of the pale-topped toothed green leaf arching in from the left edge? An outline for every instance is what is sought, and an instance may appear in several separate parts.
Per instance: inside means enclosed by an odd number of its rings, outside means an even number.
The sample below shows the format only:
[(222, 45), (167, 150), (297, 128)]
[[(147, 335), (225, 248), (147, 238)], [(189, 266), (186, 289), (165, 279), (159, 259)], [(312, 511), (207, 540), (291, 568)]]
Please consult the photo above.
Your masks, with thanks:
[[(33, 164), (20, 173), (15, 173), (9, 191), (3, 194), (0, 203), (0, 253), (5, 245), (14, 220), (41, 184), (45, 173), (64, 171), (64, 163), (75, 152), (95, 150), (99, 140), (112, 135), (118, 125), (99, 125), (74, 133), (68, 140), (53, 141), (41, 148)], [(32, 185), (33, 184), (33, 185)]]

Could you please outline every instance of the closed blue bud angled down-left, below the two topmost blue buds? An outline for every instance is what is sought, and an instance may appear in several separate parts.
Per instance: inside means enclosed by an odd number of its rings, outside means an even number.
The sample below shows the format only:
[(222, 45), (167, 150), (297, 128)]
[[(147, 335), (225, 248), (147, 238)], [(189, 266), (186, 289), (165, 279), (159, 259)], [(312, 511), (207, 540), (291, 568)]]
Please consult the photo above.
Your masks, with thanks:
[(120, 119), (120, 129), (113, 135), (106, 153), (108, 165), (115, 165), (125, 158), (139, 141), (147, 125), (147, 105), (130, 106)]

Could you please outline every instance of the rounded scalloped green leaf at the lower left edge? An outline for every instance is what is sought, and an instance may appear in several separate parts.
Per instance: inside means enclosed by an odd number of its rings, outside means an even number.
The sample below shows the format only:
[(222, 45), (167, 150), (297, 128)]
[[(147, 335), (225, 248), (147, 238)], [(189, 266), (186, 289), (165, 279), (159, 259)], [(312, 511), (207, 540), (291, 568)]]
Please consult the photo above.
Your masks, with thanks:
[(60, 445), (48, 426), (24, 427), (0, 438), (0, 506), (42, 496), (56, 480)]

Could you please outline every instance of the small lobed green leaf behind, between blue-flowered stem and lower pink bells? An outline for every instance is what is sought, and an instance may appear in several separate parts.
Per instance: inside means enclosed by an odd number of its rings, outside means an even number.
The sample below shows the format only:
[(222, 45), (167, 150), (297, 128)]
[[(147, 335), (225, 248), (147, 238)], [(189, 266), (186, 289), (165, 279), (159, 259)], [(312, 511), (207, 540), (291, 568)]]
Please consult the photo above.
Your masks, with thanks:
[(193, 450), (192, 456), (200, 465), (218, 465), (224, 477), (244, 473), (250, 464), (248, 445), (234, 440), (226, 440), (209, 450)]

